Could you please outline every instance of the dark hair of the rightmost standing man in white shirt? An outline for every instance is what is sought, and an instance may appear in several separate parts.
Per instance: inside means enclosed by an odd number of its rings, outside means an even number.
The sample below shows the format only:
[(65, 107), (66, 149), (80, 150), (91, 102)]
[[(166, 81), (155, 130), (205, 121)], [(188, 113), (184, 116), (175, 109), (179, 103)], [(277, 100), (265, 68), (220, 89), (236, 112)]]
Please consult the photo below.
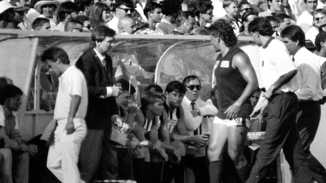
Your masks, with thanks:
[(305, 45), (304, 32), (298, 25), (288, 25), (281, 31), (281, 37), (288, 37), (292, 41), (299, 41), (299, 46)]

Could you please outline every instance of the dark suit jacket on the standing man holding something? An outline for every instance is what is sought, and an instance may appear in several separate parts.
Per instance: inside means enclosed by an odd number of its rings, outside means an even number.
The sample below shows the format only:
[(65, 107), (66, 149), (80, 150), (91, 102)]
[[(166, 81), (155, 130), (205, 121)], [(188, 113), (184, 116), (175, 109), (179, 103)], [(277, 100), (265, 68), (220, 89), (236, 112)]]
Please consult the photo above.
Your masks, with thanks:
[(85, 120), (87, 128), (90, 129), (110, 129), (111, 116), (118, 114), (115, 97), (103, 97), (106, 96), (106, 87), (114, 83), (112, 59), (107, 54), (105, 57), (108, 74), (105, 74), (105, 69), (93, 48), (84, 52), (76, 62), (87, 82), (88, 107)]

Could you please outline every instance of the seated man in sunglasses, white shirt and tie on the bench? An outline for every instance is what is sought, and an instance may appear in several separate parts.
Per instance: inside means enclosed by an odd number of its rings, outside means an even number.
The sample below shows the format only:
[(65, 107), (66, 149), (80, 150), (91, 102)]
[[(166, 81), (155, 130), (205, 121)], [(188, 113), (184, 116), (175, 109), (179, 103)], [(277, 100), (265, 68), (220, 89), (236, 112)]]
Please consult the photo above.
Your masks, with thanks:
[[(183, 80), (187, 91), (182, 101), (185, 113), (185, 124), (189, 135), (203, 134), (202, 122), (206, 115), (215, 116), (217, 108), (214, 105), (206, 104), (200, 99), (199, 91), (201, 81), (196, 75), (189, 75)], [(192, 168), (196, 182), (209, 182), (208, 161), (205, 154), (205, 144), (199, 146), (186, 147), (185, 165)]]

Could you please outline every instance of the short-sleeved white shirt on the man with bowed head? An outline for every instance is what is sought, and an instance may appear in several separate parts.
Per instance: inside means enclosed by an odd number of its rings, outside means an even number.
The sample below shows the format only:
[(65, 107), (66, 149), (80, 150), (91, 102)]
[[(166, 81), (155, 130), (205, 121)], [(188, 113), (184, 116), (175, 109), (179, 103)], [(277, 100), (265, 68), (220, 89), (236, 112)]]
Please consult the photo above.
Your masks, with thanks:
[(75, 117), (84, 118), (88, 104), (87, 84), (83, 73), (75, 65), (68, 67), (59, 77), (59, 88), (54, 108), (55, 119), (68, 118), (72, 95), (81, 96)]

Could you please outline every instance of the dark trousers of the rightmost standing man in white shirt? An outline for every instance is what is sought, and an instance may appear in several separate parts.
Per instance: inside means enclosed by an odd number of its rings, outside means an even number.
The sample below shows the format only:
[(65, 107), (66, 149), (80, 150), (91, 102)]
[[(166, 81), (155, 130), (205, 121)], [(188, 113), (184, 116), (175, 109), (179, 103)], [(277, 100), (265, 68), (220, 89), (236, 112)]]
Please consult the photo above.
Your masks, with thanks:
[(300, 140), (311, 169), (312, 177), (321, 183), (326, 182), (326, 170), (310, 152), (310, 144), (316, 135), (319, 121), (319, 101), (300, 101), (296, 121)]

